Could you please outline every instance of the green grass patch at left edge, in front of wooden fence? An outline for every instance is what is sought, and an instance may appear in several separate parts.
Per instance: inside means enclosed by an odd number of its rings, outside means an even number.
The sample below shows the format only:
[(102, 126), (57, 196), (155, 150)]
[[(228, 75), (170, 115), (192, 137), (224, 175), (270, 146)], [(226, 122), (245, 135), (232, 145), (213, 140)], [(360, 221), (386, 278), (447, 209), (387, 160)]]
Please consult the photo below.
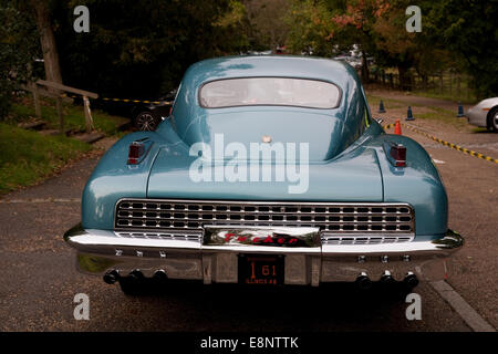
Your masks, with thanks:
[(43, 180), (92, 146), (0, 123), (0, 195)]

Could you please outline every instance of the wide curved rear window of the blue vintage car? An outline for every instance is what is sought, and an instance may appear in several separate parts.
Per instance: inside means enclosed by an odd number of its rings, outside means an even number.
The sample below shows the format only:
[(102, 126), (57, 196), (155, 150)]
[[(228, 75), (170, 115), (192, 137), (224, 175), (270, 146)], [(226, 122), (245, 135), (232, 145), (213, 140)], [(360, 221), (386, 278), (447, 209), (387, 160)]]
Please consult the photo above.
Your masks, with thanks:
[(199, 102), (206, 108), (252, 105), (283, 105), (334, 108), (340, 90), (332, 83), (291, 77), (243, 77), (204, 84)]

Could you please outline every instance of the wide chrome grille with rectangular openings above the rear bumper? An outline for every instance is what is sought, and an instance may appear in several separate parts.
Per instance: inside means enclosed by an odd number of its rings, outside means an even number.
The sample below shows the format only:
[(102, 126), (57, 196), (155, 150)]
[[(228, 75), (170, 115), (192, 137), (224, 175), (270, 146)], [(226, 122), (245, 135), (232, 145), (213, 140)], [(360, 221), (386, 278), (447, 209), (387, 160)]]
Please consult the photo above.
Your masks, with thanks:
[(319, 227), (328, 235), (415, 233), (414, 210), (407, 204), (122, 199), (115, 210), (116, 230), (203, 231), (204, 225)]

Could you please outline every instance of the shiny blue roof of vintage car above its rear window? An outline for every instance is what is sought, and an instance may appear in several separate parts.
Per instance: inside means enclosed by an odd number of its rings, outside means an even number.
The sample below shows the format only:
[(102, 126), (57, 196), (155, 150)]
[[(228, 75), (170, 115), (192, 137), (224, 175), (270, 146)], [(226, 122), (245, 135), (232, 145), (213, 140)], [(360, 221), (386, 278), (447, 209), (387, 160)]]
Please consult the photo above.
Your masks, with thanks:
[(354, 70), (343, 62), (323, 58), (292, 55), (222, 56), (193, 64), (184, 82), (198, 86), (204, 82), (248, 76), (284, 76), (330, 81), (343, 88)]

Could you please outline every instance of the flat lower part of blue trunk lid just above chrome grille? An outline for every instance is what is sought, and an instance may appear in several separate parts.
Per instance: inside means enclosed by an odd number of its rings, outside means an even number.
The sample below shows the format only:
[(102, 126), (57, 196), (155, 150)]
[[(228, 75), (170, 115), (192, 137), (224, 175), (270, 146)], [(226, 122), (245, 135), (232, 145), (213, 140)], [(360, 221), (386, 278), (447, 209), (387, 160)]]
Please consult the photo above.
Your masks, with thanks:
[[(333, 160), (311, 162), (300, 166), (302, 169), (283, 168), (280, 180), (276, 169), (284, 165), (279, 163), (215, 162), (200, 169), (197, 156), (188, 156), (185, 148), (176, 146), (163, 147), (158, 153), (148, 178), (148, 198), (383, 201), (376, 153), (363, 146), (351, 148)], [(324, 156), (323, 152), (320, 156)], [(234, 179), (236, 165), (240, 169)], [(267, 169), (272, 170), (271, 180), (262, 178)]]

